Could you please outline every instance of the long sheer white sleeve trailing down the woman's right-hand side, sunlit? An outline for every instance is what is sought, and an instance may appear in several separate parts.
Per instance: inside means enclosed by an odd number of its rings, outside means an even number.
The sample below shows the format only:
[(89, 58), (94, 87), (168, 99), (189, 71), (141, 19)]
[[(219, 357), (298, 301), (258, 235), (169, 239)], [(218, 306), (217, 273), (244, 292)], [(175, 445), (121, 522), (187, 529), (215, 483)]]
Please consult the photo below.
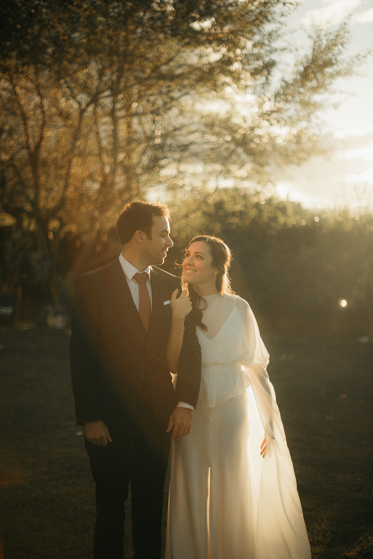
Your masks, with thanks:
[[(242, 304), (237, 309), (243, 326), (239, 362), (244, 366), (250, 381), (247, 389), (250, 421), (248, 453), (253, 477), (254, 518), (257, 518), (257, 557), (310, 559), (294, 468), (276, 404), (275, 390), (266, 370), (269, 354), (252, 310), (245, 301), (239, 301)], [(258, 443), (263, 430), (267, 444), (264, 460), (260, 456)]]

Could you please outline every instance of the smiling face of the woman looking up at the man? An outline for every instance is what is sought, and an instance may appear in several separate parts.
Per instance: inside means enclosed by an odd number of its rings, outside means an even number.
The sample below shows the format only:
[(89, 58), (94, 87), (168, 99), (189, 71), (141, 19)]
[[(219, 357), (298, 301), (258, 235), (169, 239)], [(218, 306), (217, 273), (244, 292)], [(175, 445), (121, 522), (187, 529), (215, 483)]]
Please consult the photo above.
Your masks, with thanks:
[(183, 260), (183, 274), (187, 283), (197, 285), (198, 283), (210, 283), (214, 285), (213, 257), (210, 248), (204, 241), (192, 243)]

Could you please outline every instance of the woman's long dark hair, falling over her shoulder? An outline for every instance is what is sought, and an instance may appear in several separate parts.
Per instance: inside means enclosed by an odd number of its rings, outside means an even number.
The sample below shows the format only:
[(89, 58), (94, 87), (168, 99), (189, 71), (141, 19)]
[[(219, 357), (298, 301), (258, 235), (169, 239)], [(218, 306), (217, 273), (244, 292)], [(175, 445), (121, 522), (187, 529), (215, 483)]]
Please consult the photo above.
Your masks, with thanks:
[[(230, 277), (228, 275), (230, 262), (232, 260), (232, 254), (229, 247), (223, 240), (219, 239), (219, 237), (214, 237), (213, 235), (197, 235), (189, 241), (186, 250), (188, 250), (192, 243), (197, 243), (199, 241), (206, 243), (209, 247), (210, 254), (213, 257), (211, 265), (218, 270), (218, 274), (216, 274), (215, 277), (216, 289), (219, 291), (221, 296), (225, 293), (233, 295), (234, 291), (232, 291), (232, 287), (230, 287)], [(201, 330), (207, 330), (206, 324), (202, 322), (202, 311), (205, 310), (207, 306), (205, 299), (195, 292), (192, 283), (185, 283), (183, 288), (188, 290), (190, 300), (192, 302), (190, 315), (193, 321), (200, 327)]]

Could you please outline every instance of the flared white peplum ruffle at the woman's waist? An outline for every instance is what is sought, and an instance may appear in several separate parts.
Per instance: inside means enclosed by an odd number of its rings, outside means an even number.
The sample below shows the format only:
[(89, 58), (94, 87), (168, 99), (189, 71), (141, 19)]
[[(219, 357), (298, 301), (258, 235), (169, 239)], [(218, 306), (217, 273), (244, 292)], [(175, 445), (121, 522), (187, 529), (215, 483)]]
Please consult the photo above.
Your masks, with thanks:
[(202, 365), (201, 388), (196, 411), (214, 408), (215, 404), (239, 396), (249, 385), (247, 372), (240, 363)]

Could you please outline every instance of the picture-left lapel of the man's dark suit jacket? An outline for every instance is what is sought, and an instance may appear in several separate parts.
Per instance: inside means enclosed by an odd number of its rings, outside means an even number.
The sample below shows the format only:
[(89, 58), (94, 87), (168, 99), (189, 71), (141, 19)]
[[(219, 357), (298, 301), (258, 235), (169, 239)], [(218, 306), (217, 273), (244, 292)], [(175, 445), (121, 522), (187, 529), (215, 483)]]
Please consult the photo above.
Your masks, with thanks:
[[(110, 264), (110, 283), (114, 288), (116, 296), (120, 302), (122, 310), (127, 316), (130, 324), (133, 326), (136, 334), (138, 334), (144, 344), (147, 343), (147, 331), (144, 328), (143, 321), (140, 319), (139, 311), (136, 309), (130, 288), (128, 286), (125, 273), (120, 265), (119, 258)], [(153, 285), (152, 285), (153, 287)], [(152, 292), (153, 295), (153, 292)], [(154, 305), (154, 304), (153, 304)], [(154, 306), (153, 306), (154, 310)], [(151, 325), (151, 323), (150, 323)]]

